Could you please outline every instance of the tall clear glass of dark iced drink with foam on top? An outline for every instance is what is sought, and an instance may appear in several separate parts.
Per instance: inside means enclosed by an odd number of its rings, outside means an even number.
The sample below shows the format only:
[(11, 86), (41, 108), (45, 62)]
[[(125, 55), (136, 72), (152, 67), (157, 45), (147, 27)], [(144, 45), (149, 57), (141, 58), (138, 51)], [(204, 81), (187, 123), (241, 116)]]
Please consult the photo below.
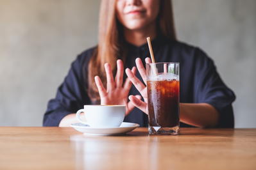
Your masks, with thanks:
[(149, 135), (180, 134), (180, 64), (146, 64)]

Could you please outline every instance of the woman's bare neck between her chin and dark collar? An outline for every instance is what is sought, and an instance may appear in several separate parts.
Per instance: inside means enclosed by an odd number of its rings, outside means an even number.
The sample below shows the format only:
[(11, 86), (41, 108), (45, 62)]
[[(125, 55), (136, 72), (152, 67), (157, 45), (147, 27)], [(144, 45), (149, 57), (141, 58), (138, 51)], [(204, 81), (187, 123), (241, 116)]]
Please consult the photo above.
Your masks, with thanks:
[(124, 38), (128, 43), (132, 43), (139, 47), (147, 42), (147, 37), (150, 37), (151, 40), (157, 37), (157, 28), (155, 24), (151, 24), (151, 26), (139, 30), (131, 30), (124, 27)]

